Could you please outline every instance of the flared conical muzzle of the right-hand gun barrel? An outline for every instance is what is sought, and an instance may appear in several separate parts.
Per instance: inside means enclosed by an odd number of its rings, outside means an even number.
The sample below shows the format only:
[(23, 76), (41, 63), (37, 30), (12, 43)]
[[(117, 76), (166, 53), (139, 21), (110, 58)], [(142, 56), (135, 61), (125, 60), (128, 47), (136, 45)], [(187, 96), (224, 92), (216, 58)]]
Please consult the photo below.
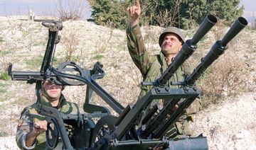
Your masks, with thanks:
[(224, 47), (230, 42), (230, 40), (235, 37), (235, 35), (238, 35), (240, 31), (245, 28), (245, 26), (248, 24), (245, 18), (239, 17), (237, 20), (235, 20), (235, 23), (231, 26), (230, 30), (228, 30), (228, 33), (223, 37), (221, 40), (221, 45)]

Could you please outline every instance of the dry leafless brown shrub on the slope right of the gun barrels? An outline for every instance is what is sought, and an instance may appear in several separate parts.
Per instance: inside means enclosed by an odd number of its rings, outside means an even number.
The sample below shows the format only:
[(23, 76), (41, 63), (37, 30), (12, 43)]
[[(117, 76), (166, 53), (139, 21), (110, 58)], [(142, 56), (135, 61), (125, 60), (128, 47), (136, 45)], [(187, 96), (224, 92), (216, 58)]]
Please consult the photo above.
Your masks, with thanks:
[(199, 79), (204, 105), (218, 103), (225, 96), (242, 91), (245, 83), (245, 67), (235, 54), (225, 54), (209, 67)]

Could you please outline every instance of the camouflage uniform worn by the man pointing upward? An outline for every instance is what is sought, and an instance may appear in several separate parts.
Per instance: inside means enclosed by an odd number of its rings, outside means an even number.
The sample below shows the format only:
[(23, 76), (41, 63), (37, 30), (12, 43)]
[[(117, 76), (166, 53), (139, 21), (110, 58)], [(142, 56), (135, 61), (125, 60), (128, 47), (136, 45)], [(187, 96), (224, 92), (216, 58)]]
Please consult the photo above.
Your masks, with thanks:
[[(149, 53), (146, 51), (146, 47), (144, 46), (142, 33), (139, 28), (139, 25), (135, 25), (134, 27), (127, 28), (127, 46), (129, 50), (129, 54), (132, 57), (134, 64), (139, 68), (142, 73), (143, 81), (153, 82), (158, 79), (161, 74), (167, 69), (168, 64), (164, 57), (163, 52), (161, 51), (160, 54), (150, 56)], [(178, 67), (174, 76), (171, 77), (170, 81), (183, 81), (187, 74), (191, 73), (191, 69), (188, 65), (188, 62), (184, 62), (181, 67)], [(170, 88), (179, 88), (179, 86), (171, 86), (169, 83)], [(139, 94), (139, 98), (142, 98), (151, 90), (152, 86), (142, 86), (142, 91)], [(155, 105), (156, 103), (160, 103), (162, 106), (167, 103), (167, 100), (153, 100), (151, 102), (150, 107)], [(144, 111), (144, 115), (148, 112), (149, 108)], [(184, 132), (187, 135), (191, 135), (191, 128), (189, 127), (188, 121), (193, 120), (192, 115), (197, 113), (201, 110), (201, 101), (197, 98), (191, 106), (186, 110), (186, 120), (184, 120)], [(143, 116), (142, 115), (142, 118)], [(163, 120), (164, 121), (164, 120)], [(140, 125), (139, 125), (140, 126)], [(181, 135), (181, 120), (176, 122), (173, 127), (169, 129), (169, 137), (177, 137), (177, 135)]]

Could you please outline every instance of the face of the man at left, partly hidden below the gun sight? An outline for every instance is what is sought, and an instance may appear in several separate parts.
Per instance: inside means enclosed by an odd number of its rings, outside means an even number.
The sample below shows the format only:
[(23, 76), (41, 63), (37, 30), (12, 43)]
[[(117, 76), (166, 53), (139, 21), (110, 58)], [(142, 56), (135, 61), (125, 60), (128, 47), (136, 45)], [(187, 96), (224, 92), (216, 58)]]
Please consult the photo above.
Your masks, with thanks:
[(48, 81), (45, 81), (43, 83), (43, 87), (46, 91), (46, 93), (48, 94), (48, 96), (50, 96), (51, 98), (59, 98), (60, 97), (60, 93), (61, 93), (61, 86), (50, 84)]

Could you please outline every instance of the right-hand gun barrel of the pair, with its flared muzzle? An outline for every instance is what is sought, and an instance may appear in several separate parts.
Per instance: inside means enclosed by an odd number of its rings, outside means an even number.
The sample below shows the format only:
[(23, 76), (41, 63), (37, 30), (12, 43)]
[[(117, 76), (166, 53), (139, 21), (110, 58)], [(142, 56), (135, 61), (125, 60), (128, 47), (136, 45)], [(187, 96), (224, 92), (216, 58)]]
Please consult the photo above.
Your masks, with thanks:
[(220, 57), (220, 55), (223, 54), (226, 49), (228, 49), (228, 47), (226, 47), (228, 42), (230, 42), (230, 40), (232, 40), (235, 35), (238, 35), (238, 33), (243, 28), (245, 28), (246, 25), (247, 21), (245, 20), (245, 18), (239, 17), (235, 21), (235, 23), (233, 23), (230, 30), (228, 30), (228, 33), (226, 33), (226, 35), (223, 37), (223, 40), (218, 40), (217, 42), (215, 42), (213, 47), (210, 49), (210, 52), (206, 54), (206, 57), (202, 59), (201, 64), (199, 64), (198, 67), (196, 67), (196, 69), (193, 71), (193, 73), (188, 76), (185, 82), (188, 85), (192, 86), (193, 83), (195, 83), (196, 80), (201, 76), (201, 74), (203, 74), (203, 72), (210, 66), (210, 64), (212, 64), (215, 59), (218, 59), (218, 57)]

